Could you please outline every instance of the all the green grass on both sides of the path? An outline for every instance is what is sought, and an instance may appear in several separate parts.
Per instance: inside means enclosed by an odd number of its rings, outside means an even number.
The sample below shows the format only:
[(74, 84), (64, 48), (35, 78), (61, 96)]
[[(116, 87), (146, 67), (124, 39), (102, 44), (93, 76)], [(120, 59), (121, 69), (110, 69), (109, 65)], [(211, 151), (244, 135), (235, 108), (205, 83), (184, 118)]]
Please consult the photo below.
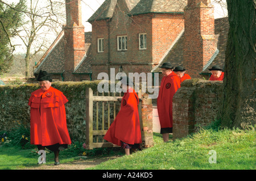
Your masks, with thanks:
[[(82, 153), (81, 146), (72, 145), (71, 148), (61, 151), (61, 163), (72, 162)], [(110, 150), (110, 151), (109, 151)], [(102, 162), (90, 169), (131, 169), (131, 170), (186, 170), (186, 169), (256, 169), (255, 132), (228, 130), (202, 130), (185, 138), (164, 143), (162, 135), (154, 133), (154, 146), (143, 149), (131, 155), (125, 155), (117, 149), (85, 150), (88, 158), (100, 157), (102, 154), (122, 155), (117, 159)], [(209, 163), (210, 150), (216, 151), (217, 163)], [(94, 155), (90, 156), (89, 153)], [(18, 146), (0, 145), (0, 170), (24, 169), (38, 167), (39, 155), (35, 149), (21, 149)], [(54, 163), (54, 154), (47, 153), (47, 164)]]

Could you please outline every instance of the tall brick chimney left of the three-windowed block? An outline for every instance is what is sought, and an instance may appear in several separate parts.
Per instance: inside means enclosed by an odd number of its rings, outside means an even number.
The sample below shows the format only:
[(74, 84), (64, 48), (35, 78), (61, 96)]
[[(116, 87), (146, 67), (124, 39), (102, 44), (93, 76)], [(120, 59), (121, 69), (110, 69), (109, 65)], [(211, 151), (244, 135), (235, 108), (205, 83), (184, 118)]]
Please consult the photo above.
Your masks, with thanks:
[(67, 24), (65, 32), (64, 81), (73, 81), (73, 71), (85, 56), (84, 26), (80, 0), (65, 0)]

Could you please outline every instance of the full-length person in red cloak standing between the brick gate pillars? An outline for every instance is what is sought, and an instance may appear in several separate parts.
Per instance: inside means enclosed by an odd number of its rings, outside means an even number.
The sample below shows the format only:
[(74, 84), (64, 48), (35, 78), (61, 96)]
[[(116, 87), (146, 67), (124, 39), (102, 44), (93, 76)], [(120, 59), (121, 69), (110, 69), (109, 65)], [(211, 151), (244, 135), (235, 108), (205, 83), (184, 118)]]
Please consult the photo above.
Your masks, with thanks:
[(180, 78), (172, 71), (174, 68), (168, 62), (162, 66), (162, 78), (159, 95), (157, 99), (158, 117), (160, 121), (160, 133), (163, 135), (163, 141), (169, 140), (169, 133), (172, 133), (172, 98), (175, 92), (180, 88)]

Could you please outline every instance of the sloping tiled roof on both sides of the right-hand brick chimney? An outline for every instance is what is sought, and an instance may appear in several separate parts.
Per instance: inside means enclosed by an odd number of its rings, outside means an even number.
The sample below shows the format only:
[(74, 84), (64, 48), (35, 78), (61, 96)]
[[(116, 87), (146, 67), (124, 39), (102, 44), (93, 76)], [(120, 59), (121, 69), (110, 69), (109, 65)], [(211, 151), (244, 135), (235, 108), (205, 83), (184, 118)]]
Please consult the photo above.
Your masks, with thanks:
[[(208, 68), (206, 68), (204, 71), (202, 70), (201, 73), (210, 73), (208, 69), (213, 65), (218, 65), (221, 68), (224, 68), (226, 43), (228, 40), (229, 31), (228, 18), (215, 19), (214, 23), (218, 54), (209, 64)], [(180, 39), (176, 41), (174, 47), (172, 47), (167, 56), (163, 58), (163, 61), (160, 62), (157, 68), (155, 68), (154, 72), (160, 72), (161, 70), (159, 66), (161, 66), (164, 62), (171, 62), (173, 66), (183, 66), (183, 40), (184, 35), (182, 35)]]

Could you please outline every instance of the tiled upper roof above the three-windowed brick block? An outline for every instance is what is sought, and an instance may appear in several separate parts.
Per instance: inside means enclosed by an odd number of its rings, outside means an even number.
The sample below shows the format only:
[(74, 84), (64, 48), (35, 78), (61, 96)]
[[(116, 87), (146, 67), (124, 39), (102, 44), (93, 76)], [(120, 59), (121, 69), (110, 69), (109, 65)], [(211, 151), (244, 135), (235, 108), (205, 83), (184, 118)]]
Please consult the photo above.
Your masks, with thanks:
[[(94, 20), (110, 19), (113, 17), (115, 6), (118, 0), (106, 0), (98, 10), (88, 19)], [(171, 13), (183, 12), (187, 5), (185, 0), (123, 0), (129, 9), (129, 15), (139, 15), (146, 13)]]

